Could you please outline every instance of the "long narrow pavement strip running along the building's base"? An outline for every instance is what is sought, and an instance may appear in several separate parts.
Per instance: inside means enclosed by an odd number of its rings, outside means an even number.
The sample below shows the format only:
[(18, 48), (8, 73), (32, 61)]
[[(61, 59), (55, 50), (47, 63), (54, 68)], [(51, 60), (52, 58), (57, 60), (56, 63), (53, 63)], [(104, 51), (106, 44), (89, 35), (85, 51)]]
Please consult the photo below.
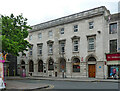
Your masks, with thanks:
[(115, 79), (97, 79), (97, 78), (60, 78), (60, 77), (9, 77), (8, 80), (60, 80), (60, 81), (79, 81), (79, 82), (120, 82)]

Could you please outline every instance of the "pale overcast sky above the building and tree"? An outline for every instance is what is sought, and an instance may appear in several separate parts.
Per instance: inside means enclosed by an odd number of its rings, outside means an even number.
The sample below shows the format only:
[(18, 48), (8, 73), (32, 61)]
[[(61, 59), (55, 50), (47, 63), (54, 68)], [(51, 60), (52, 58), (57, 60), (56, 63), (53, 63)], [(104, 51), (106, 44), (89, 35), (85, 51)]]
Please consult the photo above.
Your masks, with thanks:
[(32, 26), (99, 6), (106, 6), (112, 14), (117, 13), (118, 1), (120, 0), (1, 0), (0, 13), (23, 13), (28, 19), (28, 25)]

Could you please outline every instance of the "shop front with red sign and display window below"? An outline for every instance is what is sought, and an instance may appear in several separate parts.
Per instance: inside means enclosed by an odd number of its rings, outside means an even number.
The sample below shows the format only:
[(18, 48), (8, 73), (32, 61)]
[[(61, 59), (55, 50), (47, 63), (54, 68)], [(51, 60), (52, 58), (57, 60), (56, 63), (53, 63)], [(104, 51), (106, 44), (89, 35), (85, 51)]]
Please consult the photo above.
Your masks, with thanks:
[(120, 78), (120, 53), (106, 54), (108, 78)]

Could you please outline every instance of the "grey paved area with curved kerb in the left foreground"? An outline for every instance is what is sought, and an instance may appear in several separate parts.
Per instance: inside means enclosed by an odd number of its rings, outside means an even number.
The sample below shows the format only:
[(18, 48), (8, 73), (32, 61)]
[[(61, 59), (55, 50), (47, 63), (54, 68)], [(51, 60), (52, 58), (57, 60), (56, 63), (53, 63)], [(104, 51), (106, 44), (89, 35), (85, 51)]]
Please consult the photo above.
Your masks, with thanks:
[(49, 85), (42, 83), (23, 83), (16, 80), (6, 80), (6, 90), (35, 90), (48, 88)]

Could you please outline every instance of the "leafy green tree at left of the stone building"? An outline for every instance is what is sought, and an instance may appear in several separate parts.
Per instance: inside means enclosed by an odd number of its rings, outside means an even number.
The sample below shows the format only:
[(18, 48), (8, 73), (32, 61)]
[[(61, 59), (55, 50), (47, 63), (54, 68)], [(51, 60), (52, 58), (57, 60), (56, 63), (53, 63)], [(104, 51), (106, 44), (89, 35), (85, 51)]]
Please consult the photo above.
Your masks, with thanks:
[(25, 38), (28, 36), (27, 18), (23, 18), (22, 14), (14, 16), (1, 16), (2, 18), (2, 52), (10, 53), (18, 56), (19, 52), (25, 54), (30, 44)]

